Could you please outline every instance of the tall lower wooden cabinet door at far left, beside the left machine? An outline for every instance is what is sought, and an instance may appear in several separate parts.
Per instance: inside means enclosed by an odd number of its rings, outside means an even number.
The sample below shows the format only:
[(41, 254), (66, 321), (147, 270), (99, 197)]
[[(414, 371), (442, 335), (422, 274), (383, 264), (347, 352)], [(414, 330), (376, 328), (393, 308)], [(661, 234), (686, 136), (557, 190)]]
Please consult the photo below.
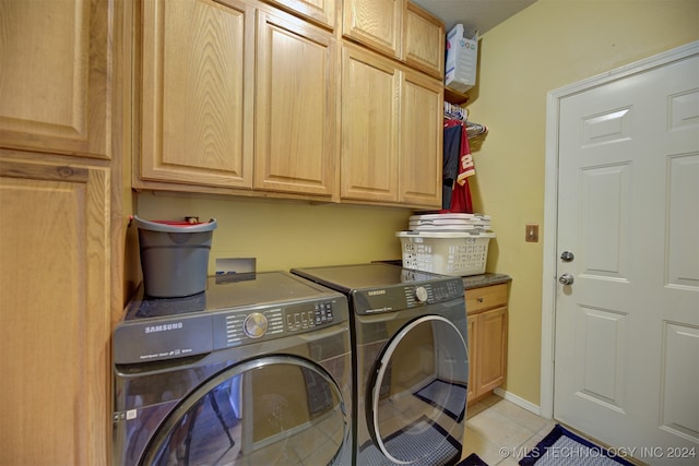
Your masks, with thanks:
[(0, 152), (0, 464), (102, 465), (111, 425), (109, 169), (10, 155)]

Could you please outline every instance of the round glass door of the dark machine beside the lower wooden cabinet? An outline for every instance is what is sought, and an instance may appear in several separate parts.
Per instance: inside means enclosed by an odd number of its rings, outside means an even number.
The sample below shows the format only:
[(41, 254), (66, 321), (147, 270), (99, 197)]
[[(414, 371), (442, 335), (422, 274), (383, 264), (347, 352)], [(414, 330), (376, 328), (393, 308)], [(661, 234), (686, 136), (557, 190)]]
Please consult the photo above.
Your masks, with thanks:
[(367, 384), (366, 418), (381, 453), (396, 464), (446, 464), (461, 454), (467, 347), (439, 315), (405, 324)]

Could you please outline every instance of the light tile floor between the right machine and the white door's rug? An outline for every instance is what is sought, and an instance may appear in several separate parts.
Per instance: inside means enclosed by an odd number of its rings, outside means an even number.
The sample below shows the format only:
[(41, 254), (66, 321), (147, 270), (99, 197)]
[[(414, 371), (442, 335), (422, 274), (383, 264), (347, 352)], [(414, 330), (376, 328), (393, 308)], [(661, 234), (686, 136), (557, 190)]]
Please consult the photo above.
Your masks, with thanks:
[(466, 410), (463, 457), (476, 453), (489, 466), (516, 466), (555, 425), (554, 420), (489, 395)]

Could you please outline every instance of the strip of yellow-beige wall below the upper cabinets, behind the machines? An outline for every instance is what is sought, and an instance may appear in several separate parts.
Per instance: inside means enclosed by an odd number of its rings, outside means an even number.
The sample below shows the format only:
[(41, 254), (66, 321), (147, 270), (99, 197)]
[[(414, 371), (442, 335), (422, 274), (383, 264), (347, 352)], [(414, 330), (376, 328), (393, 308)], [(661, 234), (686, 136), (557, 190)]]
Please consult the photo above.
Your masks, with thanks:
[(411, 211), (254, 199), (202, 199), (142, 193), (145, 219), (216, 218), (210, 273), (216, 258), (257, 258), (258, 271), (356, 264), (401, 258), (395, 231)]

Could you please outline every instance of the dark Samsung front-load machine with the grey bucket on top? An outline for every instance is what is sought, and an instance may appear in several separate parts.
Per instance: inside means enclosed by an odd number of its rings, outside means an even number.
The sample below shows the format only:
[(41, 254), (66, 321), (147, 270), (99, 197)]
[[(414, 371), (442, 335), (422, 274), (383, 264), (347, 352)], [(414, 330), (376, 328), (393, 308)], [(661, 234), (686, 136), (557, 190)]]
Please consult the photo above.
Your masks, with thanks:
[(112, 338), (115, 465), (351, 465), (346, 297), (285, 272), (139, 296)]

